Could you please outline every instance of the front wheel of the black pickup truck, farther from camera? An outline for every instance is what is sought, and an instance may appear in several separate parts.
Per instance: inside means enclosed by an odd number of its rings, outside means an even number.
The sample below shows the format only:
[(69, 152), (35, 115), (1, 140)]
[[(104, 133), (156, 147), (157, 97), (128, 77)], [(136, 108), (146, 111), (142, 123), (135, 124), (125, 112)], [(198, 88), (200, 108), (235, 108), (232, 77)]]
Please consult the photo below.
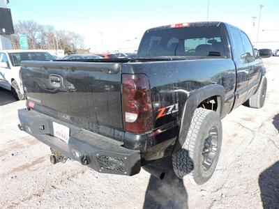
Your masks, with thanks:
[(264, 100), (266, 99), (266, 88), (267, 88), (267, 79), (262, 77), (262, 81), (259, 84), (257, 92), (253, 94), (249, 100), (246, 102), (246, 106), (252, 108), (262, 108), (264, 106)]

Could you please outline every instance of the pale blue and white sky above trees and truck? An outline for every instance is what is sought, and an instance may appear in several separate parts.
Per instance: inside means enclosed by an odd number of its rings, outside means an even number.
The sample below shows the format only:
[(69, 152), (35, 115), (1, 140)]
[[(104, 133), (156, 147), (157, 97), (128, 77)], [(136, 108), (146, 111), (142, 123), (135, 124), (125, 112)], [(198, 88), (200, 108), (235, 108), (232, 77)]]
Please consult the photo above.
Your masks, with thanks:
[[(84, 37), (92, 51), (133, 51), (146, 29), (181, 22), (228, 22), (255, 42), (262, 8), (259, 42), (278, 41), (279, 0), (10, 0), (13, 22), (33, 20)], [(255, 19), (253, 26), (252, 17)], [(264, 30), (264, 31), (262, 31)], [(272, 43), (274, 45), (274, 43)]]

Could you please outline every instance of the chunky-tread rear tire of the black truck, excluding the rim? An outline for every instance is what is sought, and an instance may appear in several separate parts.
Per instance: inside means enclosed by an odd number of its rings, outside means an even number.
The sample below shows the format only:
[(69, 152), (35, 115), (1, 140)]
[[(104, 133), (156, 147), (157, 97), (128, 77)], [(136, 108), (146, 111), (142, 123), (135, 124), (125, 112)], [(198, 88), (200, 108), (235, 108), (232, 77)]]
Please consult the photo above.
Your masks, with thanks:
[[(204, 171), (202, 169), (202, 152), (204, 141), (211, 127), (216, 127), (218, 132), (218, 147), (211, 167)], [(222, 123), (219, 114), (208, 109), (196, 109), (182, 149), (172, 155), (174, 173), (178, 178), (188, 179), (195, 185), (206, 183), (216, 168), (221, 145)]]

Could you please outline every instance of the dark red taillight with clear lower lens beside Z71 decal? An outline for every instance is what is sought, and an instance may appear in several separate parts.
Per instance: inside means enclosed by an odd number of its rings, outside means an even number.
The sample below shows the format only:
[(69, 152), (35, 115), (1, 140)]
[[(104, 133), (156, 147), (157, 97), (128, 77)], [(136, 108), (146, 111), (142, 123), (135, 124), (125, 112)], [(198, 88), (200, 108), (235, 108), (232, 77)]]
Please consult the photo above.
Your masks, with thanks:
[(146, 75), (122, 75), (122, 107), (124, 130), (142, 133), (152, 128), (152, 107)]

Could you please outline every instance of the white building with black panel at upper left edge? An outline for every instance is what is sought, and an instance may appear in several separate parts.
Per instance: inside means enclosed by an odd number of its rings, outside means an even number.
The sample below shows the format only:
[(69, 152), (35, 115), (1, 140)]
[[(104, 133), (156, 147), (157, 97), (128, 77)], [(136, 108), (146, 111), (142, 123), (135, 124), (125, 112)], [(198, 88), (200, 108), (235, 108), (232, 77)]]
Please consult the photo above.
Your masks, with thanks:
[(8, 0), (0, 0), (0, 50), (13, 49), (11, 34), (15, 33), (13, 29), (13, 20), (10, 15), (10, 9), (7, 8)]

